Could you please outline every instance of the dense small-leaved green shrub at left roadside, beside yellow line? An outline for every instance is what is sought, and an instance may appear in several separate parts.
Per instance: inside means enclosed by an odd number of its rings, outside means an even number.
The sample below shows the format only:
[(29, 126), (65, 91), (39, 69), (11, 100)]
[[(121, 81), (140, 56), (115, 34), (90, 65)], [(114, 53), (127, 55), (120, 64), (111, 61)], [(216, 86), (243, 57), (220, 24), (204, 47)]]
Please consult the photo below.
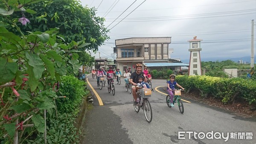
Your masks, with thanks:
[(84, 81), (80, 81), (74, 76), (63, 76), (60, 84), (58, 96), (66, 96), (66, 98), (56, 99), (57, 110), (60, 113), (77, 113), (79, 106), (86, 95)]

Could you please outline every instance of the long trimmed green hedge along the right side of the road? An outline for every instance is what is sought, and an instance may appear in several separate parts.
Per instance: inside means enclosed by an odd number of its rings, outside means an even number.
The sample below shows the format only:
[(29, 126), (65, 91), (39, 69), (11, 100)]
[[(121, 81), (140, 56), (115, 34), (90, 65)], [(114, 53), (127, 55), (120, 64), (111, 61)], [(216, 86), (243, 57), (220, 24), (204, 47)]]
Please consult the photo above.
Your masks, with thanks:
[(188, 91), (199, 89), (203, 97), (210, 94), (224, 103), (233, 101), (237, 96), (244, 98), (249, 104), (256, 103), (256, 81), (253, 80), (205, 75), (177, 75), (175, 80)]

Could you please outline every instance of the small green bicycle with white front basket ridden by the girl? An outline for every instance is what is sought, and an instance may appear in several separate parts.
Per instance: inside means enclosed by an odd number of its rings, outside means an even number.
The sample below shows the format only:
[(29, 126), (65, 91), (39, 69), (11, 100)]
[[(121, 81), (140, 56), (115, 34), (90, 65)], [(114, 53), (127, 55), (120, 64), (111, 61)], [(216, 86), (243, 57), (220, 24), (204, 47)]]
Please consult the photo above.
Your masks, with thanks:
[[(181, 101), (180, 95), (181, 95), (181, 91), (184, 91), (182, 89), (175, 89), (175, 96), (173, 97), (173, 104), (178, 103), (178, 107), (180, 109), (180, 113), (184, 112), (184, 106), (183, 103)], [(170, 100), (171, 96), (170, 95), (166, 95), (166, 104), (168, 107), (171, 107), (171, 100)]]

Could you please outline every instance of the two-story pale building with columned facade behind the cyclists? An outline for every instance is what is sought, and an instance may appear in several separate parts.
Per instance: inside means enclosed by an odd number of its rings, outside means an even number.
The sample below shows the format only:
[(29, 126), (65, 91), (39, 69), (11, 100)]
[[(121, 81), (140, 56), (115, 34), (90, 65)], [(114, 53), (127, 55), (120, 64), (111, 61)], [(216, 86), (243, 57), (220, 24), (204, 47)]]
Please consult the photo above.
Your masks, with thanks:
[[(116, 67), (121, 72), (131, 67), (134, 72), (137, 63), (148, 66), (149, 70), (188, 66), (188, 64), (168, 58), (170, 43), (171, 37), (132, 37), (116, 40)], [(173, 65), (174, 63), (180, 64)]]

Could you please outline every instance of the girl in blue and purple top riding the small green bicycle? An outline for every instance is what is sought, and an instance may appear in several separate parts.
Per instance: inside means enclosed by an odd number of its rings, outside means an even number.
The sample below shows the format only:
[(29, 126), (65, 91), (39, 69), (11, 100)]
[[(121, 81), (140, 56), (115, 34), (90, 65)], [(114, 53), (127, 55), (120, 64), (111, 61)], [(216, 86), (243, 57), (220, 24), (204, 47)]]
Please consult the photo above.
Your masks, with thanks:
[(175, 80), (175, 75), (170, 75), (169, 79), (170, 80), (167, 81), (167, 92), (171, 96), (171, 107), (174, 107), (174, 105), (173, 105), (173, 97), (174, 97), (175, 86), (178, 86), (178, 87), (180, 87), (183, 90), (184, 90), (184, 88), (182, 86), (180, 86), (176, 81), (174, 81)]

